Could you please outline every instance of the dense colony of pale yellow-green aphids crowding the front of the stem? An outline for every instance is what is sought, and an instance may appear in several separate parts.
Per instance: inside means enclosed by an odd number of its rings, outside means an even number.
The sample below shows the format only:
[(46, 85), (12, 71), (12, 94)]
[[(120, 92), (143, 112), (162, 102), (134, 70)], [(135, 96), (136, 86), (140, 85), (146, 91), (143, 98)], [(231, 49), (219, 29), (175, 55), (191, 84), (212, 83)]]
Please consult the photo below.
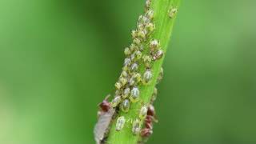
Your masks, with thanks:
[[(127, 113), (130, 105), (138, 102), (140, 85), (148, 85), (153, 78), (151, 66), (152, 62), (162, 58), (164, 51), (160, 47), (157, 39), (151, 38), (154, 33), (155, 25), (153, 22), (154, 11), (150, 10), (150, 0), (146, 1), (146, 12), (138, 18), (137, 29), (131, 31), (133, 42), (126, 47), (124, 54), (126, 58), (122, 67), (122, 74), (118, 82), (115, 83), (116, 92), (112, 101), (112, 107), (119, 106), (119, 110)], [(145, 70), (142, 70), (143, 67)], [(142, 74), (139, 71), (144, 71)], [(138, 112), (138, 118), (132, 122), (132, 132), (134, 135), (141, 134), (148, 136), (149, 130), (142, 129), (142, 123), (147, 118), (147, 105), (143, 105)], [(150, 121), (150, 118), (147, 118)], [(117, 119), (116, 130), (120, 131), (126, 123), (126, 118), (121, 116)], [(150, 125), (149, 123), (147, 125)], [(151, 126), (152, 127), (152, 126)], [(149, 131), (149, 132), (148, 132)]]

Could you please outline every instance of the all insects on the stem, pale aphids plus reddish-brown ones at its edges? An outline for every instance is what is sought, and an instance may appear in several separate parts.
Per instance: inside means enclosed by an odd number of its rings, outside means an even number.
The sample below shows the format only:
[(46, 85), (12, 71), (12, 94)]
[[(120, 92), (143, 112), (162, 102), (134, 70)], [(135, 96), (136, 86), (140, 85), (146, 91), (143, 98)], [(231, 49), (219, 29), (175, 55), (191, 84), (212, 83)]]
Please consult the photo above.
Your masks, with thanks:
[[(110, 113), (111, 110), (116, 110), (116, 112), (122, 110), (122, 112), (127, 113), (130, 110), (131, 103), (139, 101), (139, 86), (149, 84), (153, 78), (151, 71), (152, 62), (162, 58), (164, 54), (160, 47), (160, 42), (157, 39), (151, 38), (155, 25), (153, 22), (154, 11), (150, 10), (150, 2), (151, 0), (146, 0), (146, 12), (139, 16), (137, 29), (131, 31), (133, 42), (124, 50), (126, 58), (122, 67), (122, 73), (118, 78), (118, 82), (114, 85), (116, 87), (114, 99), (112, 102), (107, 102), (105, 99), (100, 104), (102, 116), (107, 114), (113, 116), (114, 113)], [(176, 12), (177, 9), (170, 9), (169, 17), (174, 18)], [(142, 70), (144, 67), (145, 70)], [(144, 71), (144, 73), (141, 74), (139, 71)], [(162, 74), (163, 70), (161, 69), (157, 79), (158, 82), (161, 81)], [(153, 133), (153, 122), (156, 122), (153, 102), (156, 99), (157, 91), (155, 88), (150, 104), (142, 105), (138, 118), (132, 120), (132, 133), (134, 135), (140, 134), (142, 138), (147, 138)], [(110, 122), (111, 118), (110, 116), (106, 118), (108, 119), (106, 122)], [(119, 117), (115, 129), (117, 131), (122, 130), (126, 122), (128, 121), (124, 116)], [(142, 126), (142, 123), (144, 123), (144, 126)], [(98, 129), (101, 127), (102, 124), (98, 122)], [(95, 128), (95, 131), (100, 131), (100, 134), (96, 134), (98, 137), (95, 139), (98, 139), (98, 142), (102, 142), (102, 135), (106, 134), (107, 129), (104, 131), (98, 129)]]

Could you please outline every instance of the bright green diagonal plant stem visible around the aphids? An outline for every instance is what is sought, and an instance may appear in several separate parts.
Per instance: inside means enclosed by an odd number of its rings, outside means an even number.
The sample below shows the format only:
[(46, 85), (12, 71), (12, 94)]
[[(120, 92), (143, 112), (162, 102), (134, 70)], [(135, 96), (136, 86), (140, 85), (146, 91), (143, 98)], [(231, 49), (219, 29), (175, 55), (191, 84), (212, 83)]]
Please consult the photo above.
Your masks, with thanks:
[[(150, 9), (154, 10), (154, 23), (155, 23), (155, 31), (152, 34), (150, 39), (158, 39), (160, 41), (162, 50), (164, 50), (166, 54), (166, 49), (168, 43), (170, 41), (170, 35), (174, 26), (174, 20), (176, 18), (176, 14), (174, 18), (169, 17), (171, 8), (178, 8), (180, 0), (152, 0)], [(149, 52), (148, 46), (146, 47), (146, 52)], [(115, 124), (117, 118), (114, 119), (114, 122), (110, 126), (110, 133), (108, 135), (107, 143), (108, 144), (135, 144), (138, 143), (140, 136), (134, 136), (132, 134), (132, 123), (131, 121), (135, 118), (138, 118), (138, 112), (142, 107), (142, 104), (150, 103), (151, 95), (154, 92), (154, 87), (157, 83), (158, 74), (160, 73), (162, 62), (164, 58), (157, 60), (154, 62), (152, 66), (152, 74), (153, 78), (150, 84), (144, 86), (139, 86), (140, 90), (140, 102), (133, 103), (130, 106), (130, 110), (128, 113), (123, 113), (120, 111), (118, 116), (124, 116), (126, 118), (126, 125), (121, 131), (115, 130)], [(140, 73), (143, 74), (145, 71), (145, 67), (140, 69)], [(143, 103), (142, 103), (143, 102)]]

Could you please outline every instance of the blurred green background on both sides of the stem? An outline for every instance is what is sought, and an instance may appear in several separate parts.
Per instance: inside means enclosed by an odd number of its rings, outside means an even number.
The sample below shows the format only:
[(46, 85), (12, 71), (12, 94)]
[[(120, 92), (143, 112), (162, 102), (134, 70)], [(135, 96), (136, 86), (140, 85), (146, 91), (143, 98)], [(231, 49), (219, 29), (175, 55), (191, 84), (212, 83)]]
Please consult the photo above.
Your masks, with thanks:
[[(1, 0), (0, 143), (89, 144), (144, 1)], [(256, 143), (256, 1), (182, 1), (149, 143)]]

